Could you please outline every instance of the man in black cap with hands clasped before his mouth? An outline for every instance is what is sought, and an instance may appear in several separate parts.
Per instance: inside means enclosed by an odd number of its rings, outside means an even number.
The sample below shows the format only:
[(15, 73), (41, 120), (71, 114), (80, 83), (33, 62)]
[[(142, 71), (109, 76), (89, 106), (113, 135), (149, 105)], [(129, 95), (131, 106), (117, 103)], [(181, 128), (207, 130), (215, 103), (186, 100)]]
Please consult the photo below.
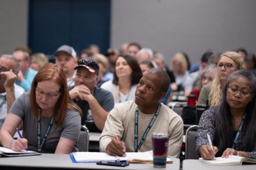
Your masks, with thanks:
[(99, 81), (99, 65), (91, 59), (80, 59), (74, 78), (74, 88), (69, 91), (71, 99), (82, 109), (81, 125), (90, 132), (101, 132), (115, 102), (112, 93), (96, 86)]

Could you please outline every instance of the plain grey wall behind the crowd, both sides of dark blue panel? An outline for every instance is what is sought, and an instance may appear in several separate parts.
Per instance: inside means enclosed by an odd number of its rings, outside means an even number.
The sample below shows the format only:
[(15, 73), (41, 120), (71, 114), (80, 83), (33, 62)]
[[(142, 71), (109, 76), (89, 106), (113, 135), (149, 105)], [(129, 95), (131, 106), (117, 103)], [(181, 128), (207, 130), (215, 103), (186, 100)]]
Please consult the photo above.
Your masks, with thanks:
[[(112, 0), (111, 46), (139, 42), (169, 62), (185, 51), (192, 63), (208, 48), (256, 53), (256, 0)], [(0, 54), (28, 38), (28, 0), (0, 0)]]

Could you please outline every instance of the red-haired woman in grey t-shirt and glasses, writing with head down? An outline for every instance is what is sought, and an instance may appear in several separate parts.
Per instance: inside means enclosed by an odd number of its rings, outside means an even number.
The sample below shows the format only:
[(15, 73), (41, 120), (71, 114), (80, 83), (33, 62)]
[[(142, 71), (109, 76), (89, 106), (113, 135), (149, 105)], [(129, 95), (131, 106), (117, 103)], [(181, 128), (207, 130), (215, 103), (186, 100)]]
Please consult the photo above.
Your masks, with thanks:
[[(81, 110), (68, 94), (62, 69), (48, 64), (36, 74), (29, 93), (12, 104), (0, 130), (0, 143), (14, 151), (24, 149), (69, 154), (78, 151)], [(23, 138), (13, 139), (23, 122)]]

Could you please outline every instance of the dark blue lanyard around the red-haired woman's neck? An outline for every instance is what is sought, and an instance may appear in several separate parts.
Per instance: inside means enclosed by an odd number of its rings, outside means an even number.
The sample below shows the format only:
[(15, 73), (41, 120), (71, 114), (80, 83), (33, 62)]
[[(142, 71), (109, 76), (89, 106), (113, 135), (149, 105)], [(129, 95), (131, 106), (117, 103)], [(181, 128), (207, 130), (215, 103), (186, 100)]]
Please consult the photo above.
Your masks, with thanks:
[(53, 126), (53, 116), (52, 116), (52, 119), (51, 119), (47, 129), (46, 129), (46, 132), (44, 134), (44, 138), (41, 142), (41, 118), (39, 117), (38, 124), (37, 124), (37, 151), (38, 152), (41, 152), (42, 147), (45, 144), (45, 141), (48, 137), (49, 131), (51, 130), (52, 126)]

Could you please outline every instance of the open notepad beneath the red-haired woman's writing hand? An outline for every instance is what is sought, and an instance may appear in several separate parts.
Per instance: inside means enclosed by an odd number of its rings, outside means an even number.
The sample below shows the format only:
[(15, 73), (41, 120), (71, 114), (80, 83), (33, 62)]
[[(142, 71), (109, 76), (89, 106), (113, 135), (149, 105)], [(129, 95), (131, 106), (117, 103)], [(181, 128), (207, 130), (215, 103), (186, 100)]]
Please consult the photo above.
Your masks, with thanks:
[(16, 152), (8, 148), (0, 147), (0, 157), (19, 157), (32, 155), (41, 155), (41, 153), (25, 150), (22, 150), (21, 152)]

